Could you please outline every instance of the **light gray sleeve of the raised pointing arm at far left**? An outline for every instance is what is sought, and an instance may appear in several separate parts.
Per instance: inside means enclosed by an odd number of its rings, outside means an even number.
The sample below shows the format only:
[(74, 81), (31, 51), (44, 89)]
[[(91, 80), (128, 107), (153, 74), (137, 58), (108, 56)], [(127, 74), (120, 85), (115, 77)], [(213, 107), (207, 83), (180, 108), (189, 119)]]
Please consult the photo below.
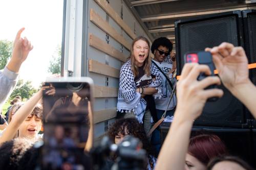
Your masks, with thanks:
[(0, 71), (0, 108), (5, 104), (11, 95), (16, 83), (18, 74), (10, 71), (7, 67)]

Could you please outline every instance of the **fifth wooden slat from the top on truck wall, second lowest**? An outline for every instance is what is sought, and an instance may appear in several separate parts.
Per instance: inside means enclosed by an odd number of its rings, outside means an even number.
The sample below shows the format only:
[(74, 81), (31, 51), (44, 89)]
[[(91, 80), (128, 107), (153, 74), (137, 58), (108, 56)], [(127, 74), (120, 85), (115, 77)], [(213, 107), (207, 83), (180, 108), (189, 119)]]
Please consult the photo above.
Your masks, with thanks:
[(94, 98), (115, 98), (118, 95), (118, 88), (94, 86), (93, 94)]

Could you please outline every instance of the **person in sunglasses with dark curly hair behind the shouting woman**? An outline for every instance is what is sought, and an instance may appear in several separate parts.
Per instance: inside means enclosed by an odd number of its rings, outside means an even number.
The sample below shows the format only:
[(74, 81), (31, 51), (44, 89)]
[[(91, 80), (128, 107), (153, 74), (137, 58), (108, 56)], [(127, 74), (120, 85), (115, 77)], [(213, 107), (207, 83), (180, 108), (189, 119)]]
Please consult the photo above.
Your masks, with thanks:
[[(173, 77), (176, 69), (176, 61), (175, 53), (172, 53), (172, 55), (170, 54), (172, 50), (172, 42), (165, 37), (155, 39), (151, 45), (151, 52), (154, 54), (152, 64), (155, 64), (158, 67), (158, 72), (163, 82), (160, 86), (162, 95), (160, 98), (155, 99), (157, 119), (162, 117), (166, 109), (166, 115), (173, 116), (177, 104), (175, 94), (173, 94), (172, 100), (169, 103), (174, 85), (176, 84), (176, 79)], [(160, 131), (158, 129), (153, 132), (151, 142), (156, 150), (156, 153), (158, 154), (161, 148)]]

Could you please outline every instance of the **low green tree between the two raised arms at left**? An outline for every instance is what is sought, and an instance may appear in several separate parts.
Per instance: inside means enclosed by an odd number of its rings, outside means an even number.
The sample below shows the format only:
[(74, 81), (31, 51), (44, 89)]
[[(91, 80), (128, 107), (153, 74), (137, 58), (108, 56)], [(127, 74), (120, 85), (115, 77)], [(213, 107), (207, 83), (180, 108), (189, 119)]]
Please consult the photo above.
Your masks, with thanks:
[(11, 93), (10, 98), (13, 99), (15, 96), (20, 95), (22, 99), (30, 98), (37, 90), (32, 86), (31, 81), (18, 80), (16, 87)]

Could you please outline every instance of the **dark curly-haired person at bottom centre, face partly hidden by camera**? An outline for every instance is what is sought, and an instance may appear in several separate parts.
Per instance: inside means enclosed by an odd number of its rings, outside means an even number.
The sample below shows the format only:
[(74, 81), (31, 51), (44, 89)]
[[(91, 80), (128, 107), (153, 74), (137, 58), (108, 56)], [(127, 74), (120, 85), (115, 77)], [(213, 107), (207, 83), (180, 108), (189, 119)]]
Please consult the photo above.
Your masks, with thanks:
[[(126, 135), (132, 135), (140, 139), (143, 144), (143, 149), (147, 152), (148, 159), (146, 169), (154, 169), (156, 164), (155, 153), (151, 149), (151, 145), (147, 140), (143, 126), (139, 124), (135, 118), (117, 119), (108, 131), (108, 136), (116, 144), (119, 144)], [(113, 159), (115, 159), (115, 157)]]

